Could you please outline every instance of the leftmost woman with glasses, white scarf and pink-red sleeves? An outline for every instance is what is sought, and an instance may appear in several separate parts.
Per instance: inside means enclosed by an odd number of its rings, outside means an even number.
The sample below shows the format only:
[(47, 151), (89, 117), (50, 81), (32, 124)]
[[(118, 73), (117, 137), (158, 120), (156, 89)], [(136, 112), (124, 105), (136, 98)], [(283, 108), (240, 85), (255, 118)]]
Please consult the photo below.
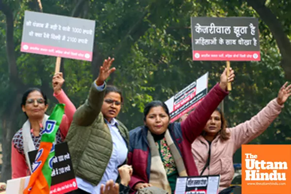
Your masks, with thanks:
[[(75, 106), (62, 90), (64, 81), (62, 73), (55, 74), (52, 79), (53, 96), (59, 103), (65, 104), (65, 115), (57, 132), (56, 143), (65, 140), (76, 111)], [(46, 114), (48, 106), (47, 96), (39, 88), (30, 88), (23, 94), (21, 108), (27, 116), (27, 121), (12, 139), (12, 178), (26, 177), (31, 174), (28, 152), (39, 148), (42, 130), (49, 117)]]

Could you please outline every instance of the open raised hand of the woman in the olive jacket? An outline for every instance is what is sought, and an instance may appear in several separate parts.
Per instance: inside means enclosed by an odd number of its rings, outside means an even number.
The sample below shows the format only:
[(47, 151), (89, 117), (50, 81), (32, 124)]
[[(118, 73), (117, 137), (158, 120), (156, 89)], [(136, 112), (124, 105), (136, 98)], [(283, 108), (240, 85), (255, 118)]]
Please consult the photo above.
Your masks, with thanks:
[(113, 61), (114, 58), (111, 59), (110, 57), (104, 60), (103, 65), (100, 66), (98, 78), (96, 79), (97, 85), (102, 85), (104, 81), (110, 76), (110, 74), (115, 71), (115, 67), (110, 68)]

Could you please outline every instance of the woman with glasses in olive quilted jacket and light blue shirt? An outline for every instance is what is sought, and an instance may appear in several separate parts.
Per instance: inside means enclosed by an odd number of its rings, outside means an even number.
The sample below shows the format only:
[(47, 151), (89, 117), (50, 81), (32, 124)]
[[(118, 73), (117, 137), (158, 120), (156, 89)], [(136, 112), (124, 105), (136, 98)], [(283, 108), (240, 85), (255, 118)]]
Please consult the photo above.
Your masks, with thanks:
[[(78, 183), (78, 190), (71, 194), (99, 194), (101, 185), (108, 180), (119, 182), (118, 167), (127, 162), (129, 132), (115, 118), (123, 97), (120, 90), (105, 83), (115, 71), (111, 68), (113, 61), (108, 58), (100, 67), (98, 78), (74, 114), (66, 136)], [(129, 189), (124, 187), (128, 183), (122, 178), (120, 183), (119, 191)]]

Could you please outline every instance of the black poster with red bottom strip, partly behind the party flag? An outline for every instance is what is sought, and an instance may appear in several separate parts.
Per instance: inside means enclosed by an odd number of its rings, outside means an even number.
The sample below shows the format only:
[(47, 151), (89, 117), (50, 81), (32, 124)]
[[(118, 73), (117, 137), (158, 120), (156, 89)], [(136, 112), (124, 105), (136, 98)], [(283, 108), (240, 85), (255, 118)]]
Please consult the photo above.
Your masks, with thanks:
[[(37, 150), (33, 150), (28, 154), (33, 165)], [(52, 162), (50, 194), (64, 194), (78, 189), (66, 142), (55, 145), (55, 157)]]

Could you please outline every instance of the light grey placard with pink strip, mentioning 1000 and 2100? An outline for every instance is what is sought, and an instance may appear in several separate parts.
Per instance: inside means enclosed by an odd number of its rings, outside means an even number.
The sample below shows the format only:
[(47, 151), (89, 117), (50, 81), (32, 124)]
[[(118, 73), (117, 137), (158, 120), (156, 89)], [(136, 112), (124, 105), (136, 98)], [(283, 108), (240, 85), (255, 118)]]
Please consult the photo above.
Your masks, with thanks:
[(95, 21), (25, 11), (21, 52), (92, 61)]

